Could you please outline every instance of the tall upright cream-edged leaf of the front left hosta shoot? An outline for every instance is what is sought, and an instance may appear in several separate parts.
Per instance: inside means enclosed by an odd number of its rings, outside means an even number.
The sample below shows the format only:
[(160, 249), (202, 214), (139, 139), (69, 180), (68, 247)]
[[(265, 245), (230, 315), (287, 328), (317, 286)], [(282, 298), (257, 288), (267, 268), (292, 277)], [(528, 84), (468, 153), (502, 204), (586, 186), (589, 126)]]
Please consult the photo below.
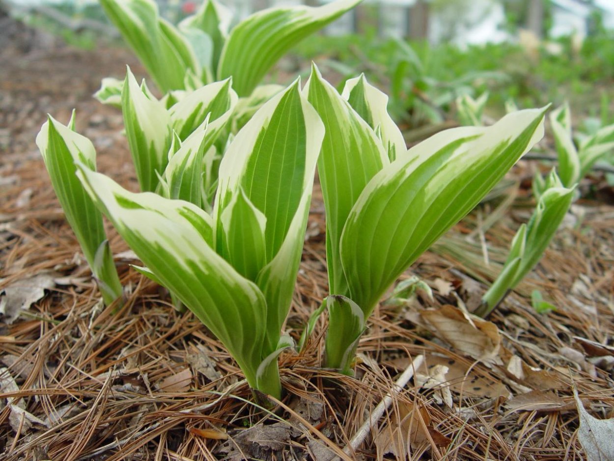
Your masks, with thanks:
[[(228, 237), (222, 216), (238, 194), (266, 219), (266, 266), (260, 267), (257, 283), (268, 304), (271, 339), (278, 337), (292, 299), (323, 136), (322, 122), (297, 81), (255, 113), (220, 164), (214, 209), (217, 251), (222, 253), (222, 235)], [(228, 243), (238, 245), (243, 242)], [(275, 345), (269, 344), (271, 350)]]

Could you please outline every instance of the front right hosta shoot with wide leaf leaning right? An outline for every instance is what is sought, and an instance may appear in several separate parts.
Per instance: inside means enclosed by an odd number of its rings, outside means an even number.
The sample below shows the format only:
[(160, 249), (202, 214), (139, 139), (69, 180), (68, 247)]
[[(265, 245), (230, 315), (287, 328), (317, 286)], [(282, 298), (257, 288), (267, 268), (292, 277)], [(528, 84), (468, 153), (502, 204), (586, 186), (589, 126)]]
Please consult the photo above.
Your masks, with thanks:
[(327, 341), (336, 348), (327, 349), (327, 364), (349, 372), (364, 320), (381, 296), (542, 138), (544, 111), (509, 114), (488, 128), (446, 130), (391, 162), (381, 130), (373, 130), (315, 68), (306, 90), (326, 127), (318, 170), (330, 292), (362, 312), (337, 302), (329, 320), (329, 335), (346, 336)]

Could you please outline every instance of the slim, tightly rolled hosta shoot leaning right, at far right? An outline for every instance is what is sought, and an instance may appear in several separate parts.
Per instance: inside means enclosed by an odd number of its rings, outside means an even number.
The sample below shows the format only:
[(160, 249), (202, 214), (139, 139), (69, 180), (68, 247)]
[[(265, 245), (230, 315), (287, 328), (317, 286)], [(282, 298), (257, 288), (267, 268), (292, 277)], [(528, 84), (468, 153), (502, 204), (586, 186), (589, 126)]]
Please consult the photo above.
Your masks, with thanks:
[(511, 241), (510, 253), (499, 276), (482, 297), (476, 315), (486, 317), (499, 305), (508, 291), (513, 290), (523, 277), (542, 258), (554, 237), (573, 199), (573, 188), (563, 187), (554, 170), (548, 176), (545, 191), (528, 224), (519, 227)]

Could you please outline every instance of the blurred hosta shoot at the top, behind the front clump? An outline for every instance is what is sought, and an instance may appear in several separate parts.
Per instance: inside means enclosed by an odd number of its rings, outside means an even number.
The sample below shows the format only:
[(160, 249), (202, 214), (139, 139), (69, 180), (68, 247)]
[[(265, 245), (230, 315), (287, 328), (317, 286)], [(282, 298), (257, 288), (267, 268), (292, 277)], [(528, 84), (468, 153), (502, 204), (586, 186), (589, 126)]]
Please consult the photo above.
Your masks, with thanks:
[[(230, 29), (230, 15), (216, 0), (205, 0), (178, 28), (160, 17), (153, 0), (101, 0), (162, 92), (197, 89), (233, 77), (240, 97), (249, 95), (293, 45), (359, 2), (336, 0), (321, 7), (270, 8)], [(105, 89), (103, 82), (102, 94), (111, 90)]]

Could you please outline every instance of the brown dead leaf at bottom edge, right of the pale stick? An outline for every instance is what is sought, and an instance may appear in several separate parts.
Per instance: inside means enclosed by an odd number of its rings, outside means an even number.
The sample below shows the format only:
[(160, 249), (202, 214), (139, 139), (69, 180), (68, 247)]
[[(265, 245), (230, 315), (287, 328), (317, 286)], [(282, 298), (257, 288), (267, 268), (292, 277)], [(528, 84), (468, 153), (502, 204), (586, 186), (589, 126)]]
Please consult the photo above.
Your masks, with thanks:
[(436, 446), (448, 446), (452, 440), (435, 430), (431, 424), (429, 411), (419, 404), (399, 402), (398, 411), (391, 412), (375, 438), (378, 459), (388, 453), (398, 459), (406, 459), (411, 450), (433, 441)]

